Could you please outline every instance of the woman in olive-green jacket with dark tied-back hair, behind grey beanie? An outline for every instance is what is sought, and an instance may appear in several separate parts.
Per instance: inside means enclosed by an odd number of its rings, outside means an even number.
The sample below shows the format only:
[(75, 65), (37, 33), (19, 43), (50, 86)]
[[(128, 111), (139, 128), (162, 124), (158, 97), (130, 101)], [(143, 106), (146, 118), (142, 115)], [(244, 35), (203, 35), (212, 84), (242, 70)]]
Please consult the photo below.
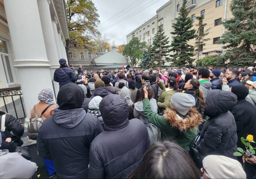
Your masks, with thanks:
[(161, 81), (157, 81), (158, 86), (163, 90), (159, 97), (157, 106), (162, 110), (166, 108), (170, 108), (170, 98), (172, 98), (173, 94), (178, 92), (177, 81), (174, 77), (168, 77), (165, 81), (165, 85)]

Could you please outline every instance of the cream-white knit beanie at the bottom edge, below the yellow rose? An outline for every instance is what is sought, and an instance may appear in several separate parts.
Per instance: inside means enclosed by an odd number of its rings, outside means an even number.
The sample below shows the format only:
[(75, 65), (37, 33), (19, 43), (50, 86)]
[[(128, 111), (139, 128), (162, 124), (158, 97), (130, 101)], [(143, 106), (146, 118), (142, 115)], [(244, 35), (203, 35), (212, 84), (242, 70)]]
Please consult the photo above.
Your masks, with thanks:
[(210, 178), (246, 178), (241, 163), (222, 155), (208, 155), (203, 167)]

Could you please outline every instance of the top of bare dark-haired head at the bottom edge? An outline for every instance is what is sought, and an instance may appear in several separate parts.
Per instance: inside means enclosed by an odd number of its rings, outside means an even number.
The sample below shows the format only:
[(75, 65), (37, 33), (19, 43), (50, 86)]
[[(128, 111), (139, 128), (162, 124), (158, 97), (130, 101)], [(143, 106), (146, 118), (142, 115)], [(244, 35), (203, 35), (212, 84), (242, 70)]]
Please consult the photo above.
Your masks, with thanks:
[(133, 178), (200, 178), (202, 173), (191, 156), (176, 142), (153, 143), (139, 166), (128, 175)]

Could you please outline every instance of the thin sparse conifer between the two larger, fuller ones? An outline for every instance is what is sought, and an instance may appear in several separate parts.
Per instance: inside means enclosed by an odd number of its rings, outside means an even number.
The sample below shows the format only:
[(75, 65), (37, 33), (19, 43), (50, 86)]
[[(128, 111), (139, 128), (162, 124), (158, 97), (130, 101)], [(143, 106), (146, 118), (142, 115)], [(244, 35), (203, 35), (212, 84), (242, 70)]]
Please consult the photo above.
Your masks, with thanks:
[(196, 24), (196, 26), (198, 27), (197, 31), (196, 31), (196, 42), (195, 42), (195, 51), (197, 53), (197, 59), (199, 59), (199, 55), (200, 55), (200, 51), (203, 49), (203, 46), (206, 45), (206, 41), (210, 40), (210, 39), (204, 39), (204, 37), (206, 35), (209, 34), (209, 29), (207, 29), (206, 31), (204, 31), (204, 27), (207, 25), (206, 23), (203, 23), (204, 20), (204, 16), (197, 16), (196, 19), (198, 20), (198, 24)]

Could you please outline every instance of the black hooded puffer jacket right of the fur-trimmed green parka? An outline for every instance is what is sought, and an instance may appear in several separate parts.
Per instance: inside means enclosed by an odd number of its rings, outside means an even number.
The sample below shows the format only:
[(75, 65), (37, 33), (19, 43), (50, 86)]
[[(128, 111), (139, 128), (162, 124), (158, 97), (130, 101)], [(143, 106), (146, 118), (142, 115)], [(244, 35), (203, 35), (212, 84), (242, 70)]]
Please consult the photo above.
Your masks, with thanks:
[(204, 114), (209, 116), (200, 134), (196, 149), (203, 155), (224, 155), (236, 158), (237, 127), (233, 114), (229, 111), (236, 105), (234, 93), (209, 90), (206, 98)]

